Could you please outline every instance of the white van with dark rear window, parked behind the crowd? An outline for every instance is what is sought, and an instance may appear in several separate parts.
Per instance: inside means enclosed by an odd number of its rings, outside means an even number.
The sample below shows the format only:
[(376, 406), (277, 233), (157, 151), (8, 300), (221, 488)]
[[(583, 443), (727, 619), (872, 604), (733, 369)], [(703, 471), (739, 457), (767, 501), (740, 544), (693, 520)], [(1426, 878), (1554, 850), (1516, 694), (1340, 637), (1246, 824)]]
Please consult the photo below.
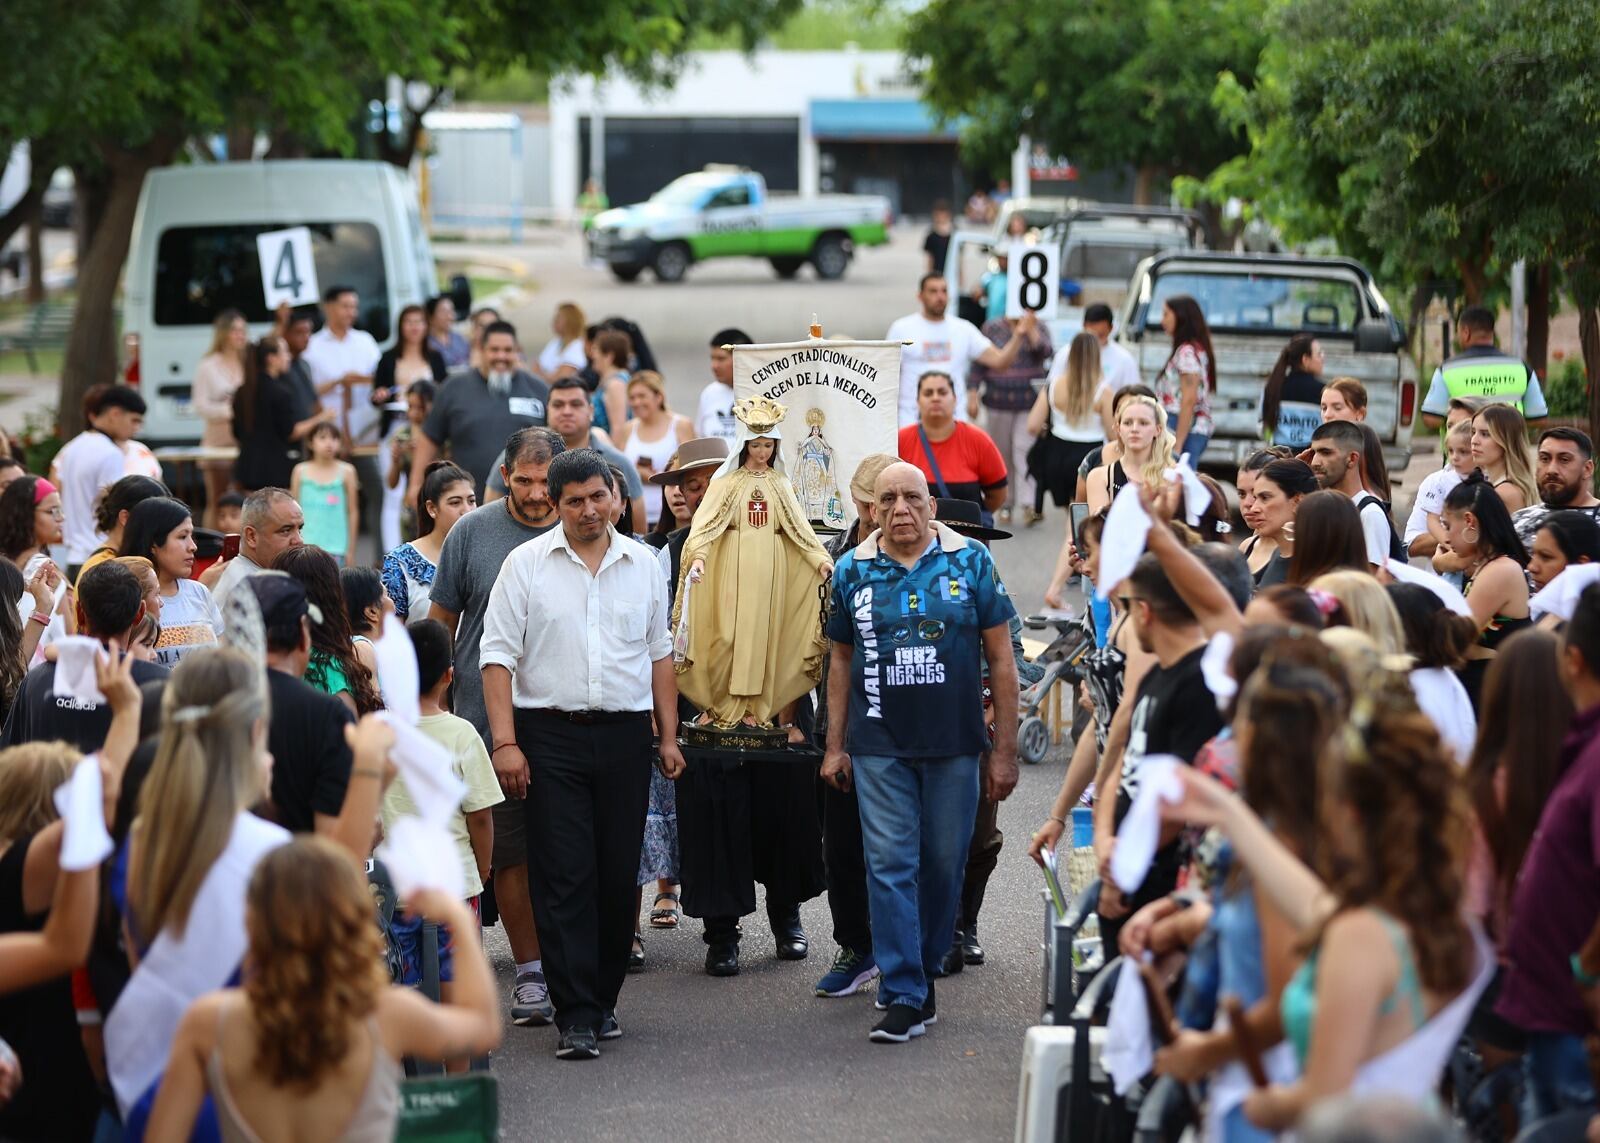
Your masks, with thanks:
[[(150, 407), (144, 439), (152, 445), (200, 439), (190, 381), (218, 314), (240, 311), (251, 338), (272, 328), (256, 235), (291, 226), (310, 231), (318, 287), (354, 287), (362, 299), (355, 323), (381, 346), (394, 341), (403, 306), (438, 293), (416, 192), (390, 163), (312, 158), (152, 171), (123, 280), (123, 331), (138, 338), (139, 387)], [(466, 314), (472, 296), (464, 277), (451, 280), (450, 295)]]

